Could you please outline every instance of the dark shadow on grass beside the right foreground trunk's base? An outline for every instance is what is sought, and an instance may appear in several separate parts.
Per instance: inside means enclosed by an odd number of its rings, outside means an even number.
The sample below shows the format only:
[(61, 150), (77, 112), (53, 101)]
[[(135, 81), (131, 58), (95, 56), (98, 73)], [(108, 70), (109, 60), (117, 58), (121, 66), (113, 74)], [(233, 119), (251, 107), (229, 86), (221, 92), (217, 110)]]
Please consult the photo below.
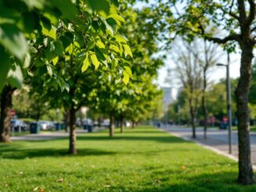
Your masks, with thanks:
[[(141, 190), (134, 188), (126, 188), (122, 185), (115, 186), (109, 190), (129, 190), (143, 192), (243, 192), (256, 191), (256, 185), (243, 186), (237, 183), (238, 172), (219, 172), (219, 173), (203, 173), (203, 174), (180, 174), (172, 172), (166, 174), (153, 173), (151, 179), (143, 183)], [(123, 189), (123, 190), (122, 190)]]

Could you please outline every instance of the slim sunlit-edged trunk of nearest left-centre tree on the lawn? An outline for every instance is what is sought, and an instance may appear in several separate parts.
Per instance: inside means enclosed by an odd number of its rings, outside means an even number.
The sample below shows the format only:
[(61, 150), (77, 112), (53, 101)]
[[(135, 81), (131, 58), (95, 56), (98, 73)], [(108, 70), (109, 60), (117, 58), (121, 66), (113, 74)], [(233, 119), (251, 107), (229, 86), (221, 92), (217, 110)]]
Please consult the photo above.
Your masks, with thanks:
[(76, 154), (76, 148), (75, 148), (75, 108), (72, 106), (69, 110), (69, 127), (70, 127), (70, 133), (69, 133), (69, 154)]

